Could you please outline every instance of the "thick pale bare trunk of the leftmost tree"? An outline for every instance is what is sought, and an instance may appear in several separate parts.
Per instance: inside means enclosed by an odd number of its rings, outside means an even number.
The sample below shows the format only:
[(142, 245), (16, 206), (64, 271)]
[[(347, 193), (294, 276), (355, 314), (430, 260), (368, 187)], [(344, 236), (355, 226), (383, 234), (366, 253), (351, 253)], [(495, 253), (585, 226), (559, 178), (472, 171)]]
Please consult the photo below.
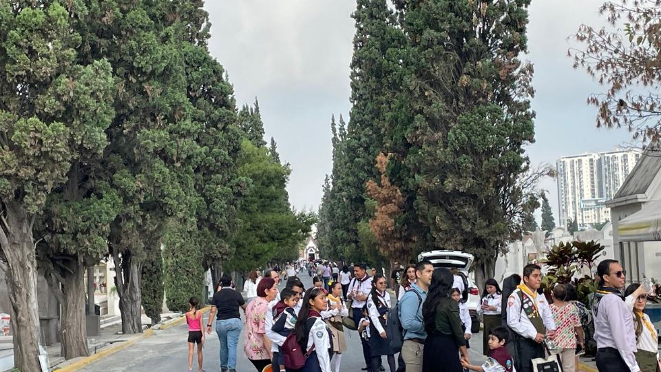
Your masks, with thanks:
[(5, 207), (6, 225), (0, 229), (0, 247), (7, 260), (5, 279), (12, 304), (14, 366), (21, 371), (41, 371), (32, 225), (20, 203), (9, 201)]

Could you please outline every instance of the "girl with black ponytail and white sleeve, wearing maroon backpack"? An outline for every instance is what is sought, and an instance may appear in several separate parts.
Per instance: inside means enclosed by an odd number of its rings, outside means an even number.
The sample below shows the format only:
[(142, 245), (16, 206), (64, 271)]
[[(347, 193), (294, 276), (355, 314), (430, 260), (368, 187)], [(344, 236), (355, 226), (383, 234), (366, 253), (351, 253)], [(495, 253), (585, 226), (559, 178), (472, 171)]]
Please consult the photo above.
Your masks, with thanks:
[(301, 350), (305, 350), (308, 358), (305, 360), (305, 366), (297, 372), (331, 372), (333, 341), (321, 315), (321, 312), (326, 310), (326, 305), (324, 289), (313, 287), (306, 291), (294, 332)]

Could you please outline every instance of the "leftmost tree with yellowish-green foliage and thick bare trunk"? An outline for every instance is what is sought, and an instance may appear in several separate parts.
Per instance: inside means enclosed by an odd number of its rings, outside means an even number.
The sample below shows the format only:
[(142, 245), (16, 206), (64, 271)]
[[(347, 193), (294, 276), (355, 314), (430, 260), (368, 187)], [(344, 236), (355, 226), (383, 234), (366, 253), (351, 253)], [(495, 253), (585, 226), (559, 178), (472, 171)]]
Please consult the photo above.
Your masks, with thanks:
[[(80, 3), (78, 10), (86, 8)], [(81, 61), (79, 50), (72, 13), (58, 2), (0, 2), (0, 265), (12, 303), (14, 365), (21, 371), (41, 371), (33, 227), (53, 189), (65, 187), (81, 161), (103, 152), (113, 118), (112, 68), (101, 57)], [(78, 249), (71, 246), (75, 237), (60, 242), (60, 249)], [(94, 256), (102, 247), (96, 239), (81, 249)], [(79, 280), (72, 282), (67, 291), (81, 289)], [(78, 309), (66, 313), (84, 308), (80, 298), (71, 305)], [(80, 333), (72, 338), (85, 340), (84, 327)]]

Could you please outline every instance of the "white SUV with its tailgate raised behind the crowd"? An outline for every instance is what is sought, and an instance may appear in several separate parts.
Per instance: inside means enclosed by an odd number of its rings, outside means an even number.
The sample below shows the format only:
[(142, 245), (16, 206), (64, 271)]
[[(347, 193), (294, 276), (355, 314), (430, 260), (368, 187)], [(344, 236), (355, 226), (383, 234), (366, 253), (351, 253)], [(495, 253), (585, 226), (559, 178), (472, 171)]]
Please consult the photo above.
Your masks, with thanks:
[(480, 291), (472, 280), (472, 273), (468, 272), (472, 265), (474, 256), (462, 251), (426, 251), (418, 255), (418, 261), (428, 260), (434, 265), (434, 269), (445, 267), (447, 269), (457, 268), (468, 281), (468, 313), (472, 326), (470, 331), (478, 333), (480, 331), (480, 320), (477, 318), (477, 308), (480, 306)]

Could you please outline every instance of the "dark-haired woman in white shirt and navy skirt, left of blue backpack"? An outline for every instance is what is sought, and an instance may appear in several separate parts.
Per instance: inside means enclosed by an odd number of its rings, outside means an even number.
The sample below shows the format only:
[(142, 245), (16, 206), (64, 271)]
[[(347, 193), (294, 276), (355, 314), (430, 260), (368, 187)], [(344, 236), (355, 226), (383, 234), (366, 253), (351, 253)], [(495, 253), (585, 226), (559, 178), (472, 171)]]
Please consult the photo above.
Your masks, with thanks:
[(372, 371), (379, 371), (381, 355), (388, 358), (390, 372), (395, 372), (395, 353), (390, 348), (386, 334), (386, 317), (390, 310), (390, 293), (386, 292), (386, 277), (377, 274), (372, 277), (372, 291), (367, 298), (367, 311), (370, 314), (370, 353)]

